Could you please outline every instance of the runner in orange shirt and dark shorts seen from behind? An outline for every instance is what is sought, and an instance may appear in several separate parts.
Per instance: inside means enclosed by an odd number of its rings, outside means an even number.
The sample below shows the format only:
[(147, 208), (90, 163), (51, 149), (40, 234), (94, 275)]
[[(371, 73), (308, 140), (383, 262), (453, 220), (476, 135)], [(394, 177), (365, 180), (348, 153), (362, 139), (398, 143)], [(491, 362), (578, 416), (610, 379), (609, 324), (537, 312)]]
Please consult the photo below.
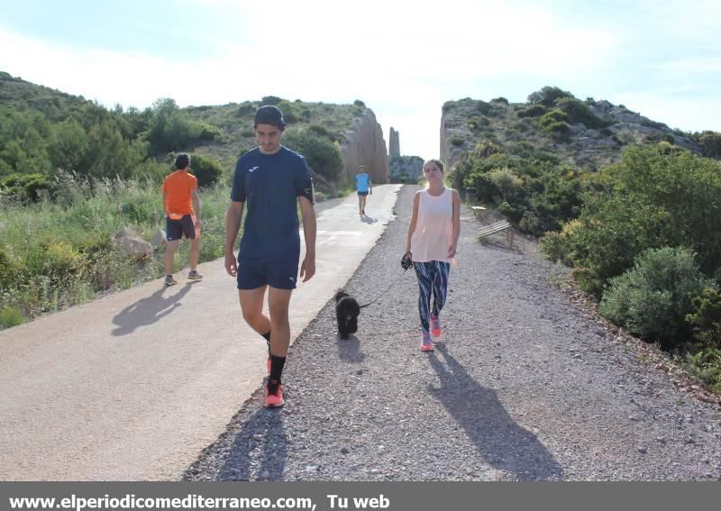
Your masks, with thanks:
[(188, 280), (201, 280), (197, 272), (200, 257), (200, 197), (197, 195), (197, 178), (188, 174), (190, 156), (178, 154), (175, 159), (176, 170), (163, 181), (163, 207), (165, 208), (165, 232), (168, 245), (165, 248), (165, 285), (173, 286), (178, 280), (173, 278), (173, 258), (178, 243), (185, 237), (190, 240), (188, 262), (190, 272)]

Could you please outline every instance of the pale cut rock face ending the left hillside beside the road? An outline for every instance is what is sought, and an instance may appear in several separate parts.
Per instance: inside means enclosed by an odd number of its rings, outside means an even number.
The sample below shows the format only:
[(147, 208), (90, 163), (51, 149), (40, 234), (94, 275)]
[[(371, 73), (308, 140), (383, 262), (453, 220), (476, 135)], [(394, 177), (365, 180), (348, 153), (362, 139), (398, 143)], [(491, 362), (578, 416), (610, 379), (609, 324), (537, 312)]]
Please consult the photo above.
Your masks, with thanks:
[(370, 108), (353, 119), (351, 129), (345, 132), (341, 152), (345, 166), (340, 182), (350, 181), (362, 165), (373, 183), (388, 183), (388, 149), (383, 129)]

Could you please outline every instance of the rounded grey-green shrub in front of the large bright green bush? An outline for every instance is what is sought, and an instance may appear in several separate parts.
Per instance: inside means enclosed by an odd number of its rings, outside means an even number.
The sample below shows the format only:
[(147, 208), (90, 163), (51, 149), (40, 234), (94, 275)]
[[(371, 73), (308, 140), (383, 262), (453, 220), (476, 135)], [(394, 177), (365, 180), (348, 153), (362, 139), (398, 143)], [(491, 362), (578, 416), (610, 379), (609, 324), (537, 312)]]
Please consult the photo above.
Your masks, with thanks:
[(692, 311), (691, 295), (712, 283), (689, 249), (648, 249), (633, 269), (611, 279), (599, 312), (632, 333), (672, 348), (689, 333), (685, 319)]

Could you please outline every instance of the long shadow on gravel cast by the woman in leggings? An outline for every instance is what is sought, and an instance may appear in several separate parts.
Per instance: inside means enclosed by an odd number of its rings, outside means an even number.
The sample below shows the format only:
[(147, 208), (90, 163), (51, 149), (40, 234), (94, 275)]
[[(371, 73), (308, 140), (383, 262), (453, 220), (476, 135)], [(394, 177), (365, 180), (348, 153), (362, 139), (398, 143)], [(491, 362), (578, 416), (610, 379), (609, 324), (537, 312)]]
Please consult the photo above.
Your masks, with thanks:
[[(435, 355), (440, 352), (443, 363)], [(520, 480), (558, 480), (563, 470), (535, 435), (508, 415), (496, 391), (480, 386), (448, 354), (443, 343), (435, 345), (429, 358), (441, 379), (441, 387), (430, 393), (449, 411), (478, 449), (497, 470), (506, 470)]]

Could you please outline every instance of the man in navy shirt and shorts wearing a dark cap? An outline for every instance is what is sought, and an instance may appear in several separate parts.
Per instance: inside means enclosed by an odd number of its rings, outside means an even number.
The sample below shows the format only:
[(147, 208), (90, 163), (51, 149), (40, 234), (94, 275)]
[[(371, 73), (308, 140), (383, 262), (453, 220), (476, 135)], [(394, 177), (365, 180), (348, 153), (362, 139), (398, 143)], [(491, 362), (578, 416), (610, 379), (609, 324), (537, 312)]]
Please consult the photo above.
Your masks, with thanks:
[[(225, 271), (238, 280), (243, 318), (269, 346), (266, 407), (284, 405), (280, 377), (290, 344), (288, 304), (300, 259), (297, 203), (306, 239), (300, 278), (306, 282), (315, 275), (313, 183), (306, 160), (280, 144), (285, 128), (278, 107), (260, 106), (253, 123), (258, 147), (238, 160), (225, 213)], [(244, 209), (248, 213), (236, 260), (233, 246)], [(270, 317), (263, 315), (266, 289)]]

